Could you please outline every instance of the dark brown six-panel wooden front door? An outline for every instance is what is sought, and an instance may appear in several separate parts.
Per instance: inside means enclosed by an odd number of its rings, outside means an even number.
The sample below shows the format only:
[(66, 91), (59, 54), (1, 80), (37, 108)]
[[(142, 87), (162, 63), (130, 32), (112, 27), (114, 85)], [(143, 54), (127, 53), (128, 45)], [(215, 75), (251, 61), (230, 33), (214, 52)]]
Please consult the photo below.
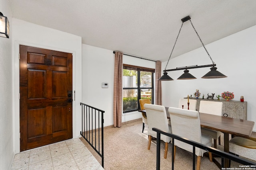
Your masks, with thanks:
[(72, 138), (72, 54), (20, 45), (20, 151)]

